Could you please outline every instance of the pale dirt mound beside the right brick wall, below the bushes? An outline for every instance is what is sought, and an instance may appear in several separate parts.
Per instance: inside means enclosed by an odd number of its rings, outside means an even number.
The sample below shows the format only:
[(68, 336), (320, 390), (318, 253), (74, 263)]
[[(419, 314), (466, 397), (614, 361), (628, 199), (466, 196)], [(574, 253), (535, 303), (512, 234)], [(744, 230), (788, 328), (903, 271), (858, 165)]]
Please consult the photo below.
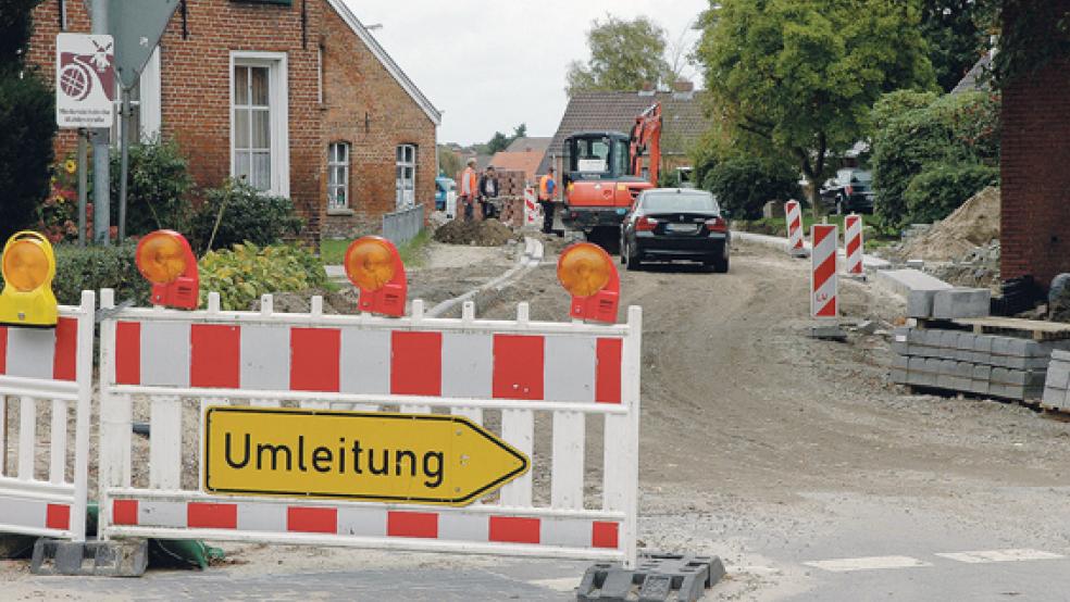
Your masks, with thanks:
[(896, 253), (904, 260), (955, 261), (999, 238), (999, 189), (988, 187)]

